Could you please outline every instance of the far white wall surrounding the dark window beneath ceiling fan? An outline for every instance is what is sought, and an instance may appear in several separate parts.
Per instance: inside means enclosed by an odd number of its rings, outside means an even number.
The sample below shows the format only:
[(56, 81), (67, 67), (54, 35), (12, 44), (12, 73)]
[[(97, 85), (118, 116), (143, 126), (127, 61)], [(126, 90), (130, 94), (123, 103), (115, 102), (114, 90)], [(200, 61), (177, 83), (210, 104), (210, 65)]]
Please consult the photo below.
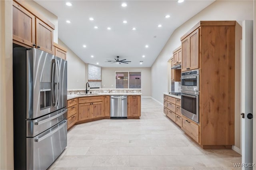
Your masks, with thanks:
[(142, 97), (151, 96), (150, 67), (102, 67), (102, 88), (115, 88), (115, 71), (141, 71)]

